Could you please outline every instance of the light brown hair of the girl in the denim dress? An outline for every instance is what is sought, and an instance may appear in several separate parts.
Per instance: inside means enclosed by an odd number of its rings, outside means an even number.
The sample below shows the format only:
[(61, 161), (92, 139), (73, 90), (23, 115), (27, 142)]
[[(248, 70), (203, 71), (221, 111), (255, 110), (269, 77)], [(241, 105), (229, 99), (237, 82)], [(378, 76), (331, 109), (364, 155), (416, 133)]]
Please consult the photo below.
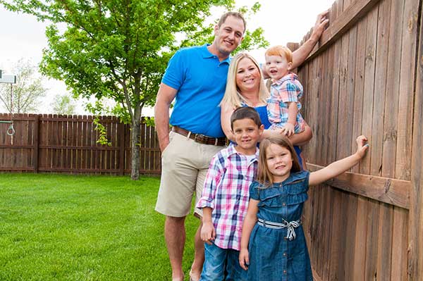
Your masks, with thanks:
[(265, 187), (273, 185), (273, 175), (269, 171), (267, 166), (267, 149), (271, 144), (277, 144), (278, 146), (285, 147), (290, 151), (291, 157), (293, 158), (293, 166), (290, 169), (290, 173), (300, 172), (301, 166), (298, 162), (298, 156), (295, 153), (293, 144), (283, 135), (272, 135), (266, 139), (263, 139), (260, 143), (260, 154), (259, 154), (259, 169), (257, 172), (257, 181)]

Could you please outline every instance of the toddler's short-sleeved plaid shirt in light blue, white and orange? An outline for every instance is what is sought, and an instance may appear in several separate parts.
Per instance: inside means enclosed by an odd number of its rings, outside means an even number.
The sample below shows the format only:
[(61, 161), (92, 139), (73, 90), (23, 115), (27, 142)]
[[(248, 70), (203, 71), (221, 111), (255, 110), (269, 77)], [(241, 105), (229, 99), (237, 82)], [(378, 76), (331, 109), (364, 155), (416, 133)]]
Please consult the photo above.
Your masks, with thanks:
[(288, 73), (275, 81), (270, 88), (270, 97), (267, 99), (267, 117), (271, 123), (270, 130), (281, 129), (288, 122), (288, 102), (297, 103), (298, 114), (295, 124), (295, 134), (304, 131), (305, 122), (300, 113), (302, 85), (295, 73)]

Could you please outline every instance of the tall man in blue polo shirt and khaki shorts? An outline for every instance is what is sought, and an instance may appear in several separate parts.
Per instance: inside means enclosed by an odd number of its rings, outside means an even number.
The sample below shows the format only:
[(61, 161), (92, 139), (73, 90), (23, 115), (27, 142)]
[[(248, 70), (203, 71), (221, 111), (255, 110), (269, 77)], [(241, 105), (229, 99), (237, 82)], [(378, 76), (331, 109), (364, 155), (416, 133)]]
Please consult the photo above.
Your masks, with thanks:
[[(294, 52), (294, 66), (307, 58), (329, 20), (317, 18), (314, 32)], [(225, 13), (214, 27), (212, 44), (180, 49), (171, 58), (157, 93), (154, 119), (162, 152), (161, 185), (156, 211), (166, 216), (164, 236), (173, 281), (183, 280), (182, 257), (185, 245), (185, 217), (190, 213), (192, 195), (202, 195), (209, 163), (225, 145), (219, 103), (226, 87), (230, 54), (243, 40), (245, 19), (240, 13)], [(169, 107), (176, 99), (169, 132)], [(200, 210), (195, 216), (201, 217)], [(195, 235), (195, 257), (190, 280), (200, 279), (204, 262), (201, 223)]]

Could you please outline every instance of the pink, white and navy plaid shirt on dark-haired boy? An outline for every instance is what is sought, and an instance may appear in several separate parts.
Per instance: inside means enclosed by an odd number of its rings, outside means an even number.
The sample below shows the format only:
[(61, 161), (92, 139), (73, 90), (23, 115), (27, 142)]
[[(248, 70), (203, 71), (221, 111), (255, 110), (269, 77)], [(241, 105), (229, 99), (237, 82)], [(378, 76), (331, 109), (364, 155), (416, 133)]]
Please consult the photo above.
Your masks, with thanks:
[(214, 244), (221, 249), (240, 250), (250, 184), (256, 177), (258, 157), (259, 149), (255, 156), (248, 158), (230, 145), (216, 154), (210, 163), (197, 208), (213, 209)]

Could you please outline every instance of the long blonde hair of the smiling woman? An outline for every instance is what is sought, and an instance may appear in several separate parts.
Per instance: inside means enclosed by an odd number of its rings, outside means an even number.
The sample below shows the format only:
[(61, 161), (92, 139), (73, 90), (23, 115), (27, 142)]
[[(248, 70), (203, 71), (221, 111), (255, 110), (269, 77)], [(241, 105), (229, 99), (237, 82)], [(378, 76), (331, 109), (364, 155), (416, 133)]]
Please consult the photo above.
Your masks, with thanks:
[(262, 70), (260, 69), (259, 63), (247, 53), (238, 53), (235, 57), (231, 59), (231, 65), (229, 65), (228, 70), (228, 80), (226, 81), (226, 90), (225, 95), (221, 101), (222, 104), (230, 104), (235, 108), (243, 106), (243, 103), (247, 104), (247, 100), (240, 94), (240, 89), (236, 85), (236, 71), (238, 69), (238, 64), (243, 58), (250, 58), (252, 63), (254, 63), (260, 73), (260, 83), (259, 83), (259, 101), (266, 103), (266, 99), (269, 97), (269, 92), (264, 85)]

